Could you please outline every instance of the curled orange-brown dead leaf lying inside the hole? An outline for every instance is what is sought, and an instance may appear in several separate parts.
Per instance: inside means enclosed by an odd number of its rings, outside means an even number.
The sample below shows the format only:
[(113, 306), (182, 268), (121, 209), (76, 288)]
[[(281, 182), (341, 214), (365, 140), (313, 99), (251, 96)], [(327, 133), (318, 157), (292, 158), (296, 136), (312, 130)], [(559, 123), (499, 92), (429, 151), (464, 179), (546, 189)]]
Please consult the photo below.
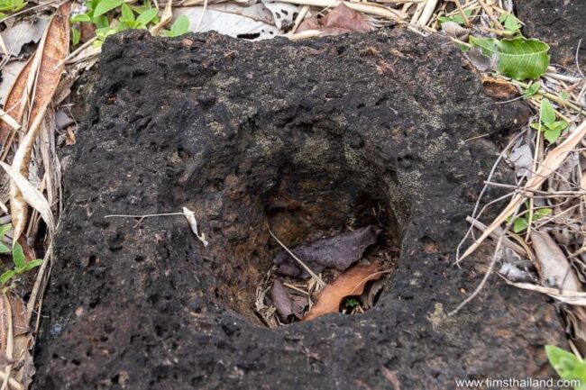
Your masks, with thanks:
[(325, 286), (317, 297), (317, 303), (303, 321), (313, 320), (324, 314), (338, 313), (343, 298), (361, 295), (367, 282), (377, 280), (389, 272), (388, 269), (381, 269), (377, 263), (356, 265), (348, 269), (337, 277), (332, 285)]

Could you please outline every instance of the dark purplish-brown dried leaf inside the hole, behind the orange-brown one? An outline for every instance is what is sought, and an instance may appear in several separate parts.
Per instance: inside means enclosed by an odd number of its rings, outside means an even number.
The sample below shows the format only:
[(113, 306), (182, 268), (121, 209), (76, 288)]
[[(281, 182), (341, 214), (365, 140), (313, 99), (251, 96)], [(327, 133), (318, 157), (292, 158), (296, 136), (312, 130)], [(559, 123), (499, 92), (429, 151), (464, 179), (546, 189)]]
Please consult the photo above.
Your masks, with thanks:
[[(334, 237), (316, 240), (292, 251), (314, 272), (321, 272), (325, 268), (343, 271), (362, 257), (364, 249), (376, 242), (378, 234), (379, 231), (376, 231), (373, 226), (367, 226)], [(281, 275), (308, 276), (307, 271), (302, 269), (286, 251), (281, 251), (273, 262), (279, 266), (277, 272)]]

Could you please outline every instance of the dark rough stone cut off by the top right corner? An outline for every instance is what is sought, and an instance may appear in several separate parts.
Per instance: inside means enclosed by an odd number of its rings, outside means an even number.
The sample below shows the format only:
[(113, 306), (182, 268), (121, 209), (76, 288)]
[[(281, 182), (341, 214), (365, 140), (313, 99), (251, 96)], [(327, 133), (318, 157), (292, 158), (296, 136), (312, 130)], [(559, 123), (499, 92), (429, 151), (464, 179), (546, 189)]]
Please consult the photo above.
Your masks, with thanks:
[(575, 67), (581, 40), (580, 66), (586, 67), (586, 6), (583, 0), (516, 0), (515, 4), (517, 17), (525, 23), (523, 34), (549, 44), (552, 62)]

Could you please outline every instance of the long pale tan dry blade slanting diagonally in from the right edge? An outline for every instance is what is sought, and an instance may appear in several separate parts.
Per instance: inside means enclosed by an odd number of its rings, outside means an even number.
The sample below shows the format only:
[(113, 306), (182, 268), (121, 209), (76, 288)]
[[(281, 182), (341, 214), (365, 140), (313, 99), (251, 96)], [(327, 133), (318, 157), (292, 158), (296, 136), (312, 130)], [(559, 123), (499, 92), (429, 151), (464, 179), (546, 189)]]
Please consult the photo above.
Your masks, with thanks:
[[(539, 168), (536, 171), (536, 174), (531, 177), (526, 183), (526, 190), (528, 191), (535, 191), (538, 190), (539, 187), (544, 184), (547, 177), (549, 177), (555, 169), (559, 168), (563, 160), (568, 156), (568, 154), (578, 145), (578, 143), (582, 140), (582, 138), (586, 135), (586, 121), (581, 122), (581, 125), (570, 134), (570, 136), (563, 141), (557, 148), (550, 151), (547, 156), (545, 157), (544, 161), (541, 163)], [(458, 261), (462, 260), (463, 258), (467, 258), (472, 254), (474, 250), (476, 250), (482, 243), (482, 241), (486, 240), (490, 234), (497, 229), (501, 223), (507, 221), (507, 218), (511, 216), (517, 208), (523, 204), (527, 195), (521, 193), (517, 193), (513, 195), (510, 203), (505, 207), (505, 209), (499, 214), (495, 220), (490, 223), (489, 227), (482, 232), (481, 237), (478, 240), (475, 240), (472, 245), (466, 249), (464, 254), (461, 258), (458, 258)]]

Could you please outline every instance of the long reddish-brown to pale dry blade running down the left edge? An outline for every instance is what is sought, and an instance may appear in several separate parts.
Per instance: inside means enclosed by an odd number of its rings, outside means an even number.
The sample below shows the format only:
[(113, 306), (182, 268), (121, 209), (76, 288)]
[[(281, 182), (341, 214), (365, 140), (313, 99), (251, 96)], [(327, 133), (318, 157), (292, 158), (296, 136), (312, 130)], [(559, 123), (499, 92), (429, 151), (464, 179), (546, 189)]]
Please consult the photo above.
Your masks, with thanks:
[[(35, 77), (34, 97), (32, 99), (32, 107), (28, 116), (28, 126), (26, 126), (27, 133), (21, 141), (18, 150), (16, 150), (16, 153), (14, 154), (12, 167), (23, 177), (28, 177), (32, 146), (34, 145), (34, 141), (41, 128), (44, 113), (46, 112), (53, 94), (59, 85), (64, 66), (62, 61), (67, 57), (69, 52), (70, 6), (70, 3), (61, 5), (57, 14), (51, 19), (35, 55), (40, 61), (39, 69), (37, 74), (31, 72), (29, 75), (29, 82), (32, 77)], [(11, 175), (11, 177), (12, 176), (13, 175)], [(26, 181), (26, 183), (28, 183), (28, 181)], [(42, 199), (44, 200), (44, 198)], [(14, 224), (14, 241), (16, 241), (25, 229), (28, 217), (28, 205), (26, 204), (20, 186), (16, 185), (14, 181), (11, 182), (10, 186), (10, 209)], [(45, 216), (47, 215), (43, 215), (43, 218), (45, 218)], [(49, 223), (47, 219), (45, 219), (45, 222)]]

